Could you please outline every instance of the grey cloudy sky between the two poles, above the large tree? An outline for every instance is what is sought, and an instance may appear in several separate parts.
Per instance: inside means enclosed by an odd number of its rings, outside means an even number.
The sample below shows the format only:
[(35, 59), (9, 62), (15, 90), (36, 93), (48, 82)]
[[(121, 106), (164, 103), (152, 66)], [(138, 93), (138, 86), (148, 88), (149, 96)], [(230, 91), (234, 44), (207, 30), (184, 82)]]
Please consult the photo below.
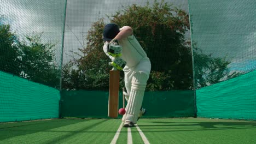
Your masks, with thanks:
[[(166, 1), (171, 2), (171, 1)], [(177, 7), (183, 7), (188, 9), (187, 2), (181, 1), (172, 1)], [(154, 3), (150, 1), (149, 4)], [(111, 16), (115, 14), (117, 10), (120, 10), (128, 5), (137, 4), (137, 5), (146, 5), (147, 1), (69, 1), (67, 3), (67, 17), (66, 17), (66, 35), (65, 35), (65, 49), (64, 52), (64, 62), (68, 62), (72, 55), (69, 51), (79, 52), (78, 48), (81, 48), (82, 45), (80, 41), (85, 41), (82, 34), (87, 35), (89, 28), (92, 23), (96, 22), (98, 19), (104, 17), (104, 22), (108, 23), (109, 20), (106, 15)]]

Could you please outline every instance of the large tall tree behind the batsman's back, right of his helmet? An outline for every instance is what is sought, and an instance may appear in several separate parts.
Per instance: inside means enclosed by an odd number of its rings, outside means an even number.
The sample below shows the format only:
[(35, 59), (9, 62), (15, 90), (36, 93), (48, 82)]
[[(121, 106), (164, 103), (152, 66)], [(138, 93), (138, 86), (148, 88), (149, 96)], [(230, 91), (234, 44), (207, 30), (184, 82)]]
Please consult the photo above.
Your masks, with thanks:
[(193, 71), (191, 48), (185, 33), (189, 16), (164, 1), (150, 7), (133, 4), (118, 11), (112, 22), (131, 26), (138, 41), (152, 62), (148, 91), (191, 89)]

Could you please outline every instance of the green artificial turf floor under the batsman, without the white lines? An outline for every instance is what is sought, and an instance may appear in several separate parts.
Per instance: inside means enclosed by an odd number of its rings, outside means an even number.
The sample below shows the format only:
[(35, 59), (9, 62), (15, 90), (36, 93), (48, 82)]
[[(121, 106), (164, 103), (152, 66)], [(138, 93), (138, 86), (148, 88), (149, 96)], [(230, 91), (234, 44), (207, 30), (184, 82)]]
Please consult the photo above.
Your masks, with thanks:
[[(110, 143), (121, 119), (51, 119), (0, 123), (0, 143)], [(256, 122), (207, 118), (139, 119), (150, 143), (256, 143)], [(133, 143), (143, 143), (131, 128)], [(127, 143), (122, 128), (117, 143)]]

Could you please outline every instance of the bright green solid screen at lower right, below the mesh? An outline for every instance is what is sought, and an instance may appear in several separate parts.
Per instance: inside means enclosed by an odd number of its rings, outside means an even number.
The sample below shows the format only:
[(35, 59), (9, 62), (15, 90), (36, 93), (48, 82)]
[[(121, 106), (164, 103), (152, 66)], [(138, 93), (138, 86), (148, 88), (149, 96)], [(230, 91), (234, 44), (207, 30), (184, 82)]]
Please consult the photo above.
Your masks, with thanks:
[(196, 91), (197, 116), (256, 119), (256, 71)]

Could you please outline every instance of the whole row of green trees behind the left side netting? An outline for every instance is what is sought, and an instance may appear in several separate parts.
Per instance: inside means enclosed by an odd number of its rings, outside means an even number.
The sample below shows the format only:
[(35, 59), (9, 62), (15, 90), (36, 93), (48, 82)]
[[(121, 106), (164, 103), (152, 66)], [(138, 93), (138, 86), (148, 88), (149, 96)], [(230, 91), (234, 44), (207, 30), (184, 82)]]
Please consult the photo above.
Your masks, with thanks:
[(20, 41), (0, 17), (0, 70), (59, 88), (60, 69), (54, 61), (55, 44), (42, 43), (42, 33)]

